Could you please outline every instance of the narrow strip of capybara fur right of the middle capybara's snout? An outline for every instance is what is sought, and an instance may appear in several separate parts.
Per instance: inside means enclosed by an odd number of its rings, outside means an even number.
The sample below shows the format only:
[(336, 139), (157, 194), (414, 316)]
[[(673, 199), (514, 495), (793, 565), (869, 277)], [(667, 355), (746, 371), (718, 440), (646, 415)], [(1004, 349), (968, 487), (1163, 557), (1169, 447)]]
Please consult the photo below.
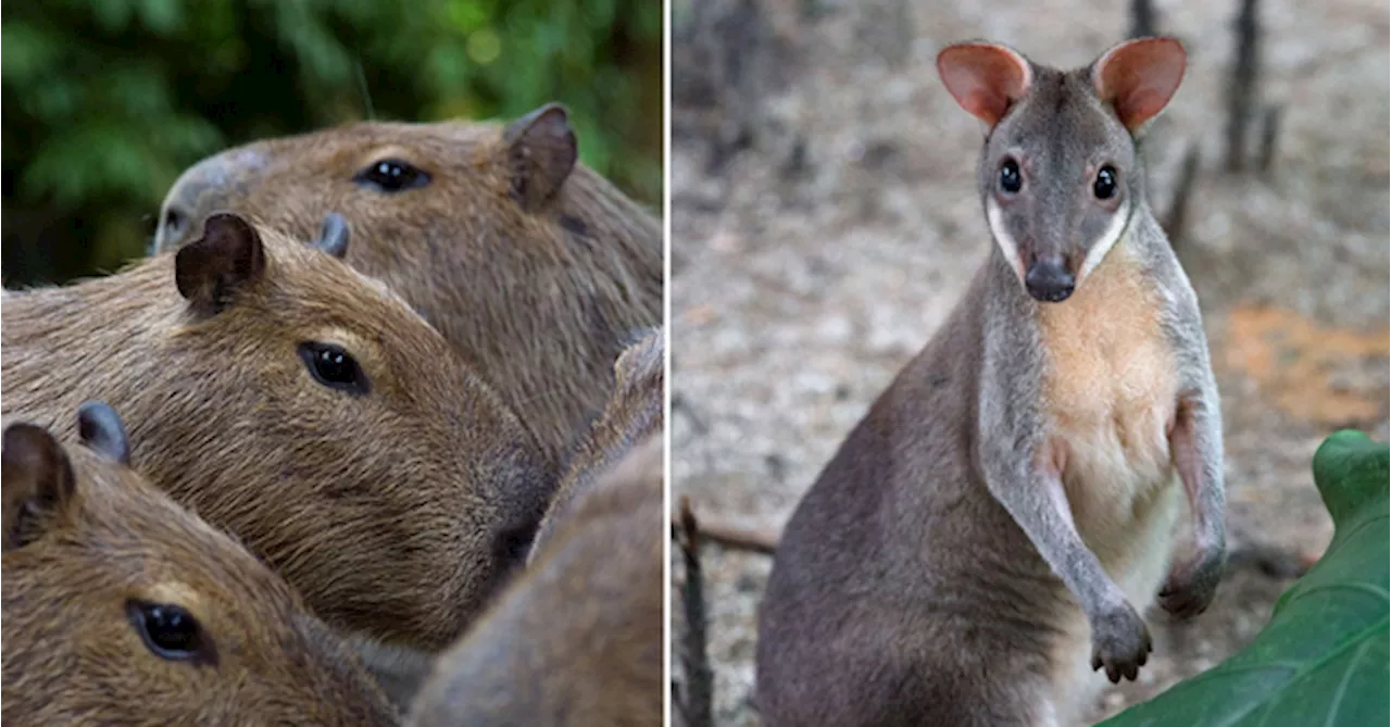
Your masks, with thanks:
[(666, 400), (666, 338), (662, 328), (643, 336), (619, 354), (613, 364), (613, 389), (604, 414), (590, 427), (588, 435), (570, 456), (561, 485), (551, 498), (545, 518), (531, 544), (534, 553), (568, 517), (573, 502), (638, 443), (662, 435), (662, 410)]

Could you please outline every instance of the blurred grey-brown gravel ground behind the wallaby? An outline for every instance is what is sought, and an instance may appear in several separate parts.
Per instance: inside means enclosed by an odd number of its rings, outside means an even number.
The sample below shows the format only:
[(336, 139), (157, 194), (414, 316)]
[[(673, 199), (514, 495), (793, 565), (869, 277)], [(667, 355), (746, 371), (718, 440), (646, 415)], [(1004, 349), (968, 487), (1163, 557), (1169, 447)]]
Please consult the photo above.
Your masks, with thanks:
[[(768, 36), (787, 47), (743, 68), (772, 81), (746, 82), (723, 110), (673, 114), (677, 495), (705, 517), (779, 527), (985, 259), (979, 128), (940, 88), (938, 49), (989, 38), (1081, 65), (1124, 36), (1127, 4), (762, 0)], [(1189, 71), (1146, 152), (1166, 210), (1185, 145), (1202, 150), (1177, 247), (1223, 391), (1231, 545), (1306, 560), (1331, 535), (1309, 471), (1319, 442), (1342, 427), (1391, 439), (1391, 15), (1380, 0), (1313, 6), (1262, 8), (1262, 95), (1284, 108), (1262, 177), (1217, 164), (1237, 3), (1156, 3)], [(676, 89), (694, 72), (682, 50)], [(712, 167), (708, 139), (739, 120), (750, 121), (747, 149)], [(705, 550), (721, 726), (758, 723), (754, 614), (769, 564)], [(1235, 567), (1196, 621), (1152, 617), (1152, 666), (1109, 691), (1092, 720), (1246, 644), (1288, 585)]]

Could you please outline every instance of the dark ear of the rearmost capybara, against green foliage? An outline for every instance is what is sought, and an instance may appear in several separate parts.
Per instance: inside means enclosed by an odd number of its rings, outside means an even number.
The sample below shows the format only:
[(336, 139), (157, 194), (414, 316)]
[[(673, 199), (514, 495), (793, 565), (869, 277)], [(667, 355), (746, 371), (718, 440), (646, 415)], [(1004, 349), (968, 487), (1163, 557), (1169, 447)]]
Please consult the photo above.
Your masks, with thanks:
[(508, 124), (502, 132), (512, 172), (512, 199), (540, 210), (555, 197), (580, 158), (579, 142), (563, 106), (548, 103)]

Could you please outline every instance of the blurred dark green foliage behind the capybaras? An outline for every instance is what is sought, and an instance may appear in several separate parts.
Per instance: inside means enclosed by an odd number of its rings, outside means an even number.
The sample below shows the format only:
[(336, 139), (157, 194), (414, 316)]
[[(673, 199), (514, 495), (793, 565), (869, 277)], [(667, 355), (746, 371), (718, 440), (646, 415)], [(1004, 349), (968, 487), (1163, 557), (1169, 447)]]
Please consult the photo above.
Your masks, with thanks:
[(581, 160), (662, 199), (661, 0), (43, 0), (0, 10), (0, 282), (143, 254), (224, 147), (559, 100)]

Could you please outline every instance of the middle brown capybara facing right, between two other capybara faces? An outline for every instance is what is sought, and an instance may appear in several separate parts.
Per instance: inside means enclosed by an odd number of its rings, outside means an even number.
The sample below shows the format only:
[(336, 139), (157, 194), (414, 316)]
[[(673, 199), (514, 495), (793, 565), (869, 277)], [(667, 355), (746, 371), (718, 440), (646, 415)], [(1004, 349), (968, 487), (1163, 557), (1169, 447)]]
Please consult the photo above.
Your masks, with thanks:
[[(214, 214), (177, 253), (0, 297), (0, 413), (103, 399), (138, 467), (345, 634), (438, 651), (520, 563), (555, 473), (437, 331), (319, 246)], [(328, 253), (325, 253), (328, 250)]]

